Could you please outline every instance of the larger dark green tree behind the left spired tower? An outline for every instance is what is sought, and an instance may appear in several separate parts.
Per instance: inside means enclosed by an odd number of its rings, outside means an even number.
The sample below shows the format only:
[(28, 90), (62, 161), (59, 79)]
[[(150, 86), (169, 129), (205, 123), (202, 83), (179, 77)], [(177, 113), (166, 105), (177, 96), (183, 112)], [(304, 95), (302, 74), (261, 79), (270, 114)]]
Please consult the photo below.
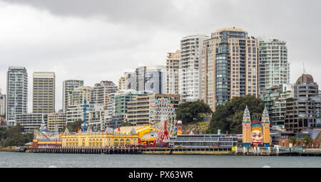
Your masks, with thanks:
[(225, 105), (218, 105), (210, 121), (210, 127), (207, 131), (214, 134), (220, 129), (222, 133), (229, 134), (242, 133), (242, 120), (245, 107), (248, 106), (250, 114), (260, 117), (263, 113), (264, 103), (253, 95), (244, 97), (233, 97)]

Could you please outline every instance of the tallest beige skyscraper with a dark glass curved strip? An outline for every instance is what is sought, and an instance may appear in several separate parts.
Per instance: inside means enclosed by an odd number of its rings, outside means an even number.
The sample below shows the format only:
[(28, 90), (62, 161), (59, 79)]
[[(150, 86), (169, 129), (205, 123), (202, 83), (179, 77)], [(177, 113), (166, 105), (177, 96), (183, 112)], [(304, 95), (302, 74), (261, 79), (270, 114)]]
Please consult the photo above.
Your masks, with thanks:
[(201, 99), (215, 111), (233, 97), (258, 97), (258, 44), (239, 28), (223, 28), (205, 40)]

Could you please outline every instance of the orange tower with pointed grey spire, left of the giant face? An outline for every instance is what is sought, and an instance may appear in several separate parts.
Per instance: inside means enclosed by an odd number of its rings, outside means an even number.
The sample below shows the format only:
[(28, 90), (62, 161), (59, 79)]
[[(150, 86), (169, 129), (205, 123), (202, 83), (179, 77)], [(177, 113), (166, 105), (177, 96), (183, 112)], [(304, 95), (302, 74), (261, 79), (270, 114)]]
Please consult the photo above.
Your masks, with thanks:
[(250, 146), (251, 144), (251, 118), (248, 105), (246, 106), (243, 114), (243, 146)]

